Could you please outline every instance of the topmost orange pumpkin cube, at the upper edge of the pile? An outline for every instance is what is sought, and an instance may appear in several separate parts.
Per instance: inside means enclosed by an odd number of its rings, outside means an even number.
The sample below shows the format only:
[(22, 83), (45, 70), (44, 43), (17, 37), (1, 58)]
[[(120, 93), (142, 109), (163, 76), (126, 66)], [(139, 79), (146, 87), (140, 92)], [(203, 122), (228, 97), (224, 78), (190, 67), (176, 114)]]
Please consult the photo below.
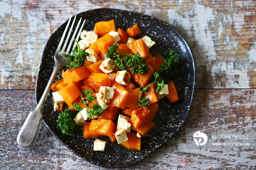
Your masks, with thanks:
[(116, 31), (116, 26), (114, 20), (110, 21), (100, 21), (95, 23), (93, 31), (99, 37), (108, 34), (110, 31)]

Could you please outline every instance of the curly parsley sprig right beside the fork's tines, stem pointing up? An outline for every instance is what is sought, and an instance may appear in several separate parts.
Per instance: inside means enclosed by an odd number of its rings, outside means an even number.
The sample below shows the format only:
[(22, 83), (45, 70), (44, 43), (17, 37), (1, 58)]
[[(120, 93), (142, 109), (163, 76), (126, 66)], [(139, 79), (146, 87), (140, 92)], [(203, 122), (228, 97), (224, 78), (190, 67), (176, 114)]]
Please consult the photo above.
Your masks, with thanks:
[(76, 39), (74, 39), (78, 48), (74, 48), (72, 50), (73, 55), (62, 54), (64, 57), (68, 59), (68, 64), (66, 65), (68, 68), (77, 68), (82, 67), (84, 65), (84, 61), (89, 53), (84, 52), (80, 49), (80, 46)]

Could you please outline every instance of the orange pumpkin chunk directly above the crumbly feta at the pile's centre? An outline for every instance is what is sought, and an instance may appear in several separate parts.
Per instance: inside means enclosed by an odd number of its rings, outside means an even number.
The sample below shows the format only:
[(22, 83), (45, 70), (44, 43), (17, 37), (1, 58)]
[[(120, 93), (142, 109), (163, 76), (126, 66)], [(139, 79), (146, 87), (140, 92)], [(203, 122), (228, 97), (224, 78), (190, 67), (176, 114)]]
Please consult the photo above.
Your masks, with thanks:
[(99, 91), (101, 86), (111, 87), (108, 75), (103, 73), (91, 73), (91, 75), (86, 79), (86, 83), (96, 91)]

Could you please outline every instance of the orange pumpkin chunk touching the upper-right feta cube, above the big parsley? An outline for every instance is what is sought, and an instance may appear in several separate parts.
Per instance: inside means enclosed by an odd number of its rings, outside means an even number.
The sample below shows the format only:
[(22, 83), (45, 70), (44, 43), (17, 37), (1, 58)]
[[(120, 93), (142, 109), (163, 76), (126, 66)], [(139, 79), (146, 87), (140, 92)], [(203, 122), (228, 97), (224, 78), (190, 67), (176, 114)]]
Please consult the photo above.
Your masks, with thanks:
[(129, 42), (127, 46), (132, 50), (132, 54), (140, 53), (140, 57), (150, 57), (149, 48), (142, 39)]

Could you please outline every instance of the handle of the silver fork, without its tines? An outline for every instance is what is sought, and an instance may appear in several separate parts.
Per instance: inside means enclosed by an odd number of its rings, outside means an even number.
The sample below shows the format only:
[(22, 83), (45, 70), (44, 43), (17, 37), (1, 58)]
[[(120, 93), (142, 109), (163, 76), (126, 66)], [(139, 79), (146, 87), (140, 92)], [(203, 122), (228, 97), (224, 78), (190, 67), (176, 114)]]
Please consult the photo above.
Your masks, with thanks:
[(37, 136), (41, 121), (43, 119), (42, 109), (44, 107), (48, 93), (50, 91), (50, 86), (52, 85), (55, 77), (57, 76), (57, 73), (59, 72), (62, 66), (63, 65), (59, 65), (57, 62), (55, 62), (52, 75), (50, 77), (50, 80), (48, 81), (48, 84), (46, 85), (44, 93), (37, 107), (29, 113), (29, 116), (27, 117), (25, 123), (23, 124), (18, 134), (17, 142), (20, 146), (29, 148), (34, 144), (35, 137)]

